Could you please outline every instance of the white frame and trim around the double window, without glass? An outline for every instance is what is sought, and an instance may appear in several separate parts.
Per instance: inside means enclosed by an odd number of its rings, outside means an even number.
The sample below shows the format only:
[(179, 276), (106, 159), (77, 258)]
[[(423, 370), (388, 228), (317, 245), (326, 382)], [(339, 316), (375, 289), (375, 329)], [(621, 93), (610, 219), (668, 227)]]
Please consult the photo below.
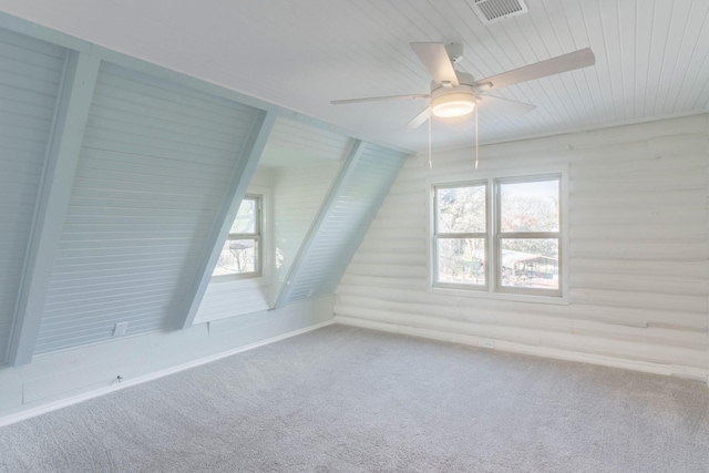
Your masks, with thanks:
[[(559, 178), (559, 232), (558, 233), (540, 233), (530, 234), (533, 237), (553, 237), (558, 238), (558, 290), (553, 289), (532, 289), (508, 288), (503, 287), (501, 282), (500, 240), (505, 235), (500, 232), (500, 200), (497, 183), (513, 182), (534, 182), (543, 181), (549, 177)], [(466, 185), (480, 185), (486, 182), (486, 275), (485, 285), (451, 285), (436, 282), (436, 187), (458, 187)], [(429, 274), (429, 291), (433, 294), (442, 294), (449, 296), (462, 297), (482, 297), (490, 299), (503, 299), (515, 301), (528, 301), (541, 304), (568, 304), (568, 167), (565, 165), (553, 167), (530, 167), (520, 168), (514, 172), (487, 172), (471, 173), (469, 175), (450, 176), (449, 178), (439, 177), (427, 179), (427, 192), (429, 195), (429, 245), (428, 245), (428, 274)]]

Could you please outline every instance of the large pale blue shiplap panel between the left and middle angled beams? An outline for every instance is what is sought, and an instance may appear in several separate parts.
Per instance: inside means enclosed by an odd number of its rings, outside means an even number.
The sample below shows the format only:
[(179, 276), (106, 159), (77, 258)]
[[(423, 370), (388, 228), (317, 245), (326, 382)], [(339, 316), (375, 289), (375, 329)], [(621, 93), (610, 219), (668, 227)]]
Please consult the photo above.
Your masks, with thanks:
[(102, 65), (37, 353), (174, 325), (255, 116)]

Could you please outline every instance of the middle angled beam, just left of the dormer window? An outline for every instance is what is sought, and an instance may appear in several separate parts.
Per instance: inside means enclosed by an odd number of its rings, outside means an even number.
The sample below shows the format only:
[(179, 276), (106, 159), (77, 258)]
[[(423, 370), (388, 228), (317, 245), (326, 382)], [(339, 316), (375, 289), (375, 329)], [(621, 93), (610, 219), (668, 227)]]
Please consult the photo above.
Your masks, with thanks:
[(195, 320), (202, 299), (212, 279), (212, 273), (222, 253), (222, 243), (229, 234), (232, 223), (256, 171), (277, 115), (278, 112), (275, 110), (259, 111), (254, 121), (251, 132), (244, 144), (243, 154), (238, 156), (238, 163), (232, 174), (232, 181), (225, 193), (222, 208), (217, 213), (212, 232), (205, 243), (203, 257), (195, 269), (195, 278), (185, 292), (182, 310), (177, 315), (176, 326), (178, 329), (191, 327)]

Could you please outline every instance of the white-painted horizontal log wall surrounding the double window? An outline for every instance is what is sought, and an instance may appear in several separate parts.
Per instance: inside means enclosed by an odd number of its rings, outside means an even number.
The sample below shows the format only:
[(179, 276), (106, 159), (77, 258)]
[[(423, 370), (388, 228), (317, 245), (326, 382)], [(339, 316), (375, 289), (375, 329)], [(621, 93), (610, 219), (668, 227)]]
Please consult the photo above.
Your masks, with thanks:
[(481, 172), (568, 165), (568, 305), (428, 291), (427, 179), (473, 176), (473, 156), (409, 158), (338, 287), (339, 321), (706, 376), (707, 115), (481, 147)]

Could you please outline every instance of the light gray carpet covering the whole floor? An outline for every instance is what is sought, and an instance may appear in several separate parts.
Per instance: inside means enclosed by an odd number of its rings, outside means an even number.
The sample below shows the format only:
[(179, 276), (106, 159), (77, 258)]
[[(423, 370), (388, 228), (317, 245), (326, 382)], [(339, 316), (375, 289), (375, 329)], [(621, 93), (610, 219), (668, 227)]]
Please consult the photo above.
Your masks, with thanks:
[(331, 326), (0, 429), (2, 472), (708, 472), (700, 382)]

